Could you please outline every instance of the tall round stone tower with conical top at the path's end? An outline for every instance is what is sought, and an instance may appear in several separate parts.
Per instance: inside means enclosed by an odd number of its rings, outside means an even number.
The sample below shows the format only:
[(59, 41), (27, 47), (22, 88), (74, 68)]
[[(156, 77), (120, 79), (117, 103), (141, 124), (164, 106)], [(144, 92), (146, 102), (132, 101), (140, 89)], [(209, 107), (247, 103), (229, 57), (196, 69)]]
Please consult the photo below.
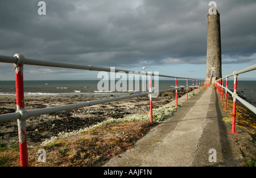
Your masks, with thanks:
[(221, 34), (220, 14), (212, 5), (212, 10), (207, 15), (207, 75), (205, 80), (214, 83), (221, 74)]

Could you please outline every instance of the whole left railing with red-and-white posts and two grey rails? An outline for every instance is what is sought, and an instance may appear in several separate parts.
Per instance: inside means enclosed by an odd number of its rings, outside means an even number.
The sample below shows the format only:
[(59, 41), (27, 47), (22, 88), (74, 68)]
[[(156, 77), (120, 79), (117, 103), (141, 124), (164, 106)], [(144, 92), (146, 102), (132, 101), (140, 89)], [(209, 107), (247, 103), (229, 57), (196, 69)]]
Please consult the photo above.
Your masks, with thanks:
[[(24, 107), (24, 86), (23, 86), (23, 65), (37, 65), (37, 66), (49, 66), (49, 67), (62, 67), (62, 68), (69, 68), (69, 69), (81, 69), (81, 70), (94, 70), (94, 71), (107, 71), (112, 72), (110, 68), (106, 67), (97, 67), (97, 66), (90, 66), (90, 65), (77, 65), (73, 63), (65, 63), (65, 62), (54, 62), (54, 61), (44, 61), (44, 60), (34, 60), (30, 58), (24, 58), (21, 54), (15, 54), (14, 57), (9, 56), (2, 56), (0, 55), (0, 62), (5, 63), (14, 63), (15, 67), (15, 85), (16, 85), (16, 112), (15, 113), (6, 113), (0, 115), (0, 122), (6, 122), (11, 120), (18, 120), (18, 134), (19, 134), (19, 149), (20, 149), (20, 166), (28, 166), (28, 159), (27, 159), (27, 135), (26, 135), (26, 120), (28, 117), (31, 116), (38, 116), (47, 113), (53, 113), (58, 111), (64, 111), (68, 109), (75, 109), (81, 107), (88, 107), (90, 105), (102, 104), (102, 103), (109, 103), (112, 101), (117, 100), (124, 100), (129, 98), (134, 98), (138, 96), (149, 95), (150, 96), (150, 122), (152, 122), (152, 73), (141, 73), (139, 75), (148, 75), (149, 76), (149, 83), (150, 88), (148, 92), (143, 92), (139, 94), (127, 95), (127, 96), (119, 96), (116, 98), (109, 98), (109, 99), (101, 99), (95, 101), (87, 101), (84, 103), (76, 103), (76, 104), (68, 104), (68, 105), (61, 105), (57, 107), (50, 107), (50, 108), (43, 108), (43, 109), (34, 109), (30, 111), (26, 111)], [(129, 74), (128, 70), (120, 70), (115, 69), (114, 72), (118, 73), (122, 71), (122, 73)], [(136, 74), (135, 72), (133, 74)], [(188, 99), (188, 87), (193, 88), (193, 94), (196, 86), (196, 91), (199, 89), (203, 89), (204, 87), (209, 85), (209, 81), (201, 80), (201, 79), (194, 79), (194, 78), (184, 78), (184, 77), (175, 77), (170, 75), (157, 75), (158, 77), (165, 77), (165, 78), (175, 78), (175, 88), (169, 88), (165, 90), (159, 90), (158, 92), (163, 91), (170, 91), (176, 90), (176, 106), (177, 106), (177, 89), (184, 88), (184, 87), (177, 87), (177, 79), (187, 79), (187, 99)], [(188, 86), (188, 80), (192, 80), (192, 86)], [(194, 81), (196, 80), (196, 84)], [(199, 82), (199, 83), (197, 83)]]

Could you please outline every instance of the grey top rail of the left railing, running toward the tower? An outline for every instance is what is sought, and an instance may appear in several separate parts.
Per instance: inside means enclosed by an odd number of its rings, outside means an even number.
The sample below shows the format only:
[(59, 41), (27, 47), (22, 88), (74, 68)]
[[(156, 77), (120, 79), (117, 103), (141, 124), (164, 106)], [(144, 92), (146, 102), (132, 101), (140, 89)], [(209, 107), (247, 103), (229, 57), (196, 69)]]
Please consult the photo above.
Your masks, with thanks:
[[(10, 57), (10, 56), (2, 56), (0, 55), (0, 62), (5, 63), (16, 63), (17, 58), (16, 57)], [(35, 60), (30, 58), (24, 58), (24, 64), (26, 65), (36, 65), (36, 66), (48, 66), (48, 67), (61, 67), (61, 68), (68, 68), (68, 69), (82, 69), (82, 70), (93, 70), (93, 71), (107, 71), (110, 72), (110, 68), (107, 67), (97, 67), (97, 66), (91, 66), (91, 65), (80, 65), (80, 64), (74, 64), (74, 63), (67, 63), (67, 62), (56, 62), (56, 61), (46, 61), (46, 60)], [(121, 70), (121, 69), (115, 69), (115, 73), (118, 73), (119, 71), (125, 72), (126, 74), (129, 74), (129, 72), (135, 72), (135, 71), (129, 71), (129, 70)], [(151, 73), (141, 73), (139, 75), (151, 75)], [(154, 76), (154, 74), (152, 74)], [(194, 79), (195, 78), (185, 78), (185, 77), (176, 77), (171, 75), (158, 75), (158, 77), (166, 77), (166, 78), (180, 78), (180, 79)], [(198, 79), (199, 80), (199, 79)]]

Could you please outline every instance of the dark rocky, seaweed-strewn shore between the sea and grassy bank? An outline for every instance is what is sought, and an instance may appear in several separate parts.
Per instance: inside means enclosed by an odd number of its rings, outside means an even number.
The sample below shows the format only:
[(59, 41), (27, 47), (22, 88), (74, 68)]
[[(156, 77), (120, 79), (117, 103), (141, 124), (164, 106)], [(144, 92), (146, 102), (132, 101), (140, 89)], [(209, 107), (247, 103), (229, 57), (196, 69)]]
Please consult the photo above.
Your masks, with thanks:
[[(189, 88), (189, 91), (192, 89)], [(178, 97), (186, 94), (184, 88), (178, 90)], [(58, 105), (81, 103), (90, 100), (106, 99), (106, 97), (83, 97), (83, 96), (25, 96), (27, 111), (32, 109), (55, 107)], [(153, 99), (153, 108), (170, 103), (175, 99), (175, 91), (160, 92), (158, 98)], [(150, 109), (148, 96), (141, 96), (126, 100), (114, 101), (93, 105), (90, 107), (60, 111), (46, 115), (30, 117), (26, 122), (27, 145), (38, 146), (40, 143), (60, 132), (72, 132), (102, 122), (107, 118), (122, 118), (134, 113), (145, 113)], [(15, 96), (0, 96), (0, 114), (16, 111)], [(16, 120), (0, 122), (0, 143), (8, 146), (18, 143), (18, 130)]]

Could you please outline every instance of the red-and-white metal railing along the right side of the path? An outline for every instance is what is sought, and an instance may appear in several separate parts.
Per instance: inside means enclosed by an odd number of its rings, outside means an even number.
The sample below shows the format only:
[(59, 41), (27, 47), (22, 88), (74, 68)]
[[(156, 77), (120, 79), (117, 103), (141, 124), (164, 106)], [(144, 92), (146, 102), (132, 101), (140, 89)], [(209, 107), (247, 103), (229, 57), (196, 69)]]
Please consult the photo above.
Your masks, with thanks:
[[(232, 95), (233, 97), (233, 113), (232, 113), (232, 131), (231, 133), (236, 133), (235, 131), (235, 126), (236, 126), (236, 100), (240, 101), (243, 105), (245, 105), (248, 109), (250, 109), (250, 111), (254, 112), (256, 114), (256, 107), (254, 107), (254, 105), (248, 103), (246, 100), (240, 98), (240, 96), (237, 95), (237, 76), (238, 74), (242, 74), (242, 73), (247, 73), (249, 71), (252, 70), (256, 70), (256, 64), (246, 67), (245, 69), (242, 69), (240, 71), (234, 71), (233, 74), (230, 75), (226, 75), (226, 77), (224, 78), (220, 78), (217, 79), (215, 81), (215, 86), (218, 89), (218, 93), (220, 94), (221, 97), (221, 101), (223, 100), (223, 89), (225, 89), (226, 93), (225, 93), (225, 108), (224, 110), (226, 110), (226, 101), (227, 101), (227, 95), (228, 92)], [(228, 88), (228, 78), (229, 77), (233, 77), (234, 76), (234, 91), (230, 91)], [(226, 87), (224, 87), (224, 79), (226, 79)]]

